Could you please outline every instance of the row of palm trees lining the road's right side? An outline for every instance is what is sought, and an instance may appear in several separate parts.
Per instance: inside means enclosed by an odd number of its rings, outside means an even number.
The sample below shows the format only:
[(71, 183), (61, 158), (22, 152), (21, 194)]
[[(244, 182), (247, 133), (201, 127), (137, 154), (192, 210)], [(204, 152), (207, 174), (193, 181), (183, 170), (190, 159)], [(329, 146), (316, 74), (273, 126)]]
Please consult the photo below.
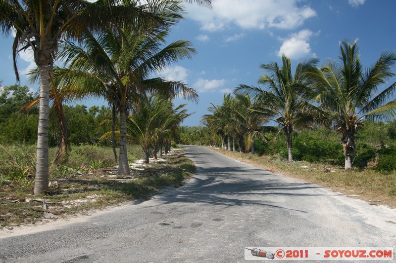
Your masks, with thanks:
[[(396, 52), (383, 52), (374, 65), (363, 68), (356, 40), (352, 44), (341, 42), (340, 49), (338, 61), (328, 60), (319, 68), (318, 60), (310, 59), (298, 63), (294, 74), (285, 55), (282, 65), (261, 65), (265, 74), (258, 83), (264, 88), (238, 86), (234, 96), (224, 96), (221, 106), (209, 107), (211, 114), (204, 115), (202, 122), (213, 135), (221, 136), (224, 148), (228, 139), (231, 149), (230, 137), (232, 142), (239, 138), (240, 148), (245, 138), (247, 148), (254, 153), (254, 137), (262, 136), (260, 127), (273, 120), (286, 137), (289, 161), (293, 161), (292, 135), (296, 129), (327, 125), (341, 134), (345, 169), (350, 169), (356, 133), (364, 120), (395, 117)], [(246, 103), (241, 103), (243, 98)]]

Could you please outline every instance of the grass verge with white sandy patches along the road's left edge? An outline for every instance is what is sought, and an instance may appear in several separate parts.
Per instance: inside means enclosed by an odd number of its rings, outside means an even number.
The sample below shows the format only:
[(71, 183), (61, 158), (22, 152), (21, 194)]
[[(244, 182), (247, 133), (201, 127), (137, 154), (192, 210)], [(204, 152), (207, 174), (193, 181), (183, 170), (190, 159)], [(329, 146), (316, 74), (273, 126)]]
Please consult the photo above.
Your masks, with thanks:
[(34, 224), (43, 219), (46, 201), (48, 210), (57, 217), (85, 213), (90, 209), (148, 198), (164, 187), (179, 187), (195, 172), (194, 163), (185, 156), (164, 156), (162, 162), (134, 166), (131, 176), (117, 176), (112, 167), (69, 169), (50, 178), (50, 192), (33, 196), (33, 184), (21, 187), (12, 182), (0, 185), (0, 228)]

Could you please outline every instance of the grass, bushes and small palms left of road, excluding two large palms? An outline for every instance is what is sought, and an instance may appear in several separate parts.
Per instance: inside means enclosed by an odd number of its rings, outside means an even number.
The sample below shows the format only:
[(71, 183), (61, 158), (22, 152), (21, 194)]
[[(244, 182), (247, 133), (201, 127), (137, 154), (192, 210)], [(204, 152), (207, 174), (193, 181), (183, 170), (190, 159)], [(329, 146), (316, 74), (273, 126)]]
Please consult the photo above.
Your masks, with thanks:
[[(146, 106), (142, 111), (134, 109), (128, 116), (127, 175), (117, 173), (115, 149), (119, 148), (120, 121), (117, 116), (112, 121), (111, 109), (64, 106), (62, 113), (68, 141), (65, 158), (57, 159), (62, 136), (58, 119), (52, 115), (49, 186), (43, 193), (34, 195), (38, 114), (36, 108), (20, 111), (34, 97), (28, 87), (20, 85), (4, 87), (0, 96), (1, 227), (12, 228), (13, 225), (35, 223), (43, 217), (62, 217), (146, 198), (161, 188), (181, 186), (195, 171), (194, 164), (182, 156), (183, 149), (171, 150), (172, 145), (176, 146), (174, 140), (180, 122), (189, 115), (182, 109), (184, 105), (174, 107), (169, 99), (151, 96), (150, 107), (143, 100), (140, 105)], [(133, 129), (133, 124), (138, 125), (138, 129)], [(137, 133), (138, 130), (143, 134)], [(142, 140), (143, 135), (150, 135), (144, 138), (145, 148), (134, 144)], [(140, 159), (145, 159), (146, 163), (134, 164)]]

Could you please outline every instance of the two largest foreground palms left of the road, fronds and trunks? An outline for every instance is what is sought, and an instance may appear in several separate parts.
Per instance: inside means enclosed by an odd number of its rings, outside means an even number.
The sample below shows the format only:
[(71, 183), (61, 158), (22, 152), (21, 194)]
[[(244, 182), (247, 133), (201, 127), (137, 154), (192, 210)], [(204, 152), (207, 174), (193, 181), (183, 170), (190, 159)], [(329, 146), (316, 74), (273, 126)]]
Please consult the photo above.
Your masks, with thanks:
[[(195, 52), (188, 41), (165, 48), (169, 30), (184, 14), (184, 2), (210, 6), (210, 0), (0, 0), (0, 29), (15, 34), (17, 55), (31, 48), (38, 67), (40, 110), (34, 193), (48, 190), (49, 91), (60, 85), (69, 99), (105, 98), (121, 116), (119, 174), (128, 174), (126, 116), (148, 93), (161, 96), (196, 93), (180, 82), (153, 74)], [(57, 59), (66, 69), (54, 67)], [(52, 94), (57, 94), (58, 86)], [(63, 90), (64, 89), (64, 90)]]

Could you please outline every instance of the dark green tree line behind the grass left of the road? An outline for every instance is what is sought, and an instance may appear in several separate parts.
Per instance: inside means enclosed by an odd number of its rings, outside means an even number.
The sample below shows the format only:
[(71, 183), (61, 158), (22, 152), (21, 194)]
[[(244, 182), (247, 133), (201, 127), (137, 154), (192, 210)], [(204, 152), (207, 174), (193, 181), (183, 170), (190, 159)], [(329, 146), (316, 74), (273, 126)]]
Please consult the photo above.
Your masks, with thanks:
[[(21, 109), (37, 97), (27, 86), (5, 86), (0, 92), (0, 143), (37, 143), (39, 113), (34, 107), (24, 112)], [(100, 137), (111, 130), (111, 110), (105, 106), (64, 105), (67, 135), (71, 145), (95, 144), (110, 146), (110, 139)], [(117, 120), (119, 122), (119, 120)], [(50, 116), (49, 147), (56, 147), (59, 140), (57, 119)]]

